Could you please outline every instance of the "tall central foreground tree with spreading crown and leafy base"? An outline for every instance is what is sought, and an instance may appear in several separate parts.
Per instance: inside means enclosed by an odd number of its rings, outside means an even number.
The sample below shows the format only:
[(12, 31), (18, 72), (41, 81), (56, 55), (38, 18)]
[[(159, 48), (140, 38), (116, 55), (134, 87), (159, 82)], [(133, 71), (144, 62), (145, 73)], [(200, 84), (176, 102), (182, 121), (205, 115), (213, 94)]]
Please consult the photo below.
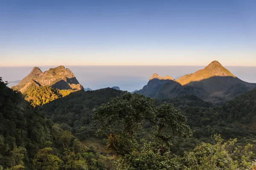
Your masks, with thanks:
[[(175, 167), (167, 164), (172, 159), (170, 139), (174, 136), (189, 138), (192, 131), (186, 125), (186, 117), (172, 104), (154, 106), (152, 98), (126, 93), (113, 98), (94, 110), (93, 118), (100, 124), (98, 134), (116, 130), (108, 136), (107, 148), (116, 158), (119, 170), (160, 170)], [(142, 121), (155, 127), (154, 141), (146, 141), (138, 147), (136, 133), (142, 129)]]

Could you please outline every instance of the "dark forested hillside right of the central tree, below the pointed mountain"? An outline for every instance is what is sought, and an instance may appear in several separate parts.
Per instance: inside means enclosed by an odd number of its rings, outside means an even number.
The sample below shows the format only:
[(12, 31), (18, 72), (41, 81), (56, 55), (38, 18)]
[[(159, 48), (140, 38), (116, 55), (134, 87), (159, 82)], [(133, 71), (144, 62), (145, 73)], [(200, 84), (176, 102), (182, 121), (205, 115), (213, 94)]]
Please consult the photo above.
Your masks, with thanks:
[[(247, 96), (254, 96), (248, 98)], [(187, 124), (194, 131), (193, 137), (189, 141), (176, 138), (172, 146), (172, 151), (178, 155), (183, 155), (183, 151), (194, 148), (200, 142), (212, 142), (210, 136), (221, 134), (228, 140), (237, 138), (238, 144), (244, 146), (247, 143), (256, 143), (256, 132), (253, 125), (242, 124), (248, 116), (252, 118), (256, 111), (255, 107), (256, 89), (246, 92), (243, 95), (227, 102), (223, 106), (213, 107), (212, 104), (202, 101), (193, 95), (186, 95), (181, 98), (156, 100), (158, 106), (163, 103), (172, 103), (187, 118)], [(250, 106), (244, 107), (244, 101), (248, 100)], [(247, 108), (247, 109), (246, 109)], [(238, 112), (237, 110), (242, 110)]]

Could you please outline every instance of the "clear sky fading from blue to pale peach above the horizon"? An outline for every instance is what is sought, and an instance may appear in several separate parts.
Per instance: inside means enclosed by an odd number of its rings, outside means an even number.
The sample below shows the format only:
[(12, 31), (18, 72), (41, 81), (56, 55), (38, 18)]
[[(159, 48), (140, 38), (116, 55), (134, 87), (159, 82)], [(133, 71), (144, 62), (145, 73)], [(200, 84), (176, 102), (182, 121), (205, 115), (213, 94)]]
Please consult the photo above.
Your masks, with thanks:
[(0, 66), (256, 66), (256, 0), (1, 0)]

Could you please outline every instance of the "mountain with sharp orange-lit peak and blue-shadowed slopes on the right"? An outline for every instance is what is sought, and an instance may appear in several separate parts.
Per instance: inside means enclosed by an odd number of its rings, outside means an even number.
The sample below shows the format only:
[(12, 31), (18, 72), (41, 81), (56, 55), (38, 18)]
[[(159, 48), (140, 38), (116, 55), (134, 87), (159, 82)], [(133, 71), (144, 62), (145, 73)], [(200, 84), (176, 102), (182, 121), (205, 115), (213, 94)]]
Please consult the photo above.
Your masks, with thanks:
[(137, 91), (152, 98), (174, 98), (182, 95), (195, 95), (213, 103), (228, 101), (256, 88), (233, 75), (218, 61), (212, 61), (204, 69), (184, 75), (177, 80), (170, 76), (160, 77), (154, 73), (148, 84)]

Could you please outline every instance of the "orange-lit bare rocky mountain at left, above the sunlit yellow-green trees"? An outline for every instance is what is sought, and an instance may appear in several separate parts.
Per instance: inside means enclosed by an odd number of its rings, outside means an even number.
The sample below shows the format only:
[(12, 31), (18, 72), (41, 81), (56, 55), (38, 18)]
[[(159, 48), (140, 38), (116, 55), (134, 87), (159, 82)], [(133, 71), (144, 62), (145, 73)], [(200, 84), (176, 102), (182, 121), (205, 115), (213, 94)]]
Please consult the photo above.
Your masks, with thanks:
[(55, 89), (84, 89), (70, 69), (65, 69), (64, 66), (51, 68), (45, 72), (34, 67), (29, 75), (23, 78), (17, 86), (12, 86), (12, 89), (25, 92), (30, 87), (39, 86), (49, 86)]

